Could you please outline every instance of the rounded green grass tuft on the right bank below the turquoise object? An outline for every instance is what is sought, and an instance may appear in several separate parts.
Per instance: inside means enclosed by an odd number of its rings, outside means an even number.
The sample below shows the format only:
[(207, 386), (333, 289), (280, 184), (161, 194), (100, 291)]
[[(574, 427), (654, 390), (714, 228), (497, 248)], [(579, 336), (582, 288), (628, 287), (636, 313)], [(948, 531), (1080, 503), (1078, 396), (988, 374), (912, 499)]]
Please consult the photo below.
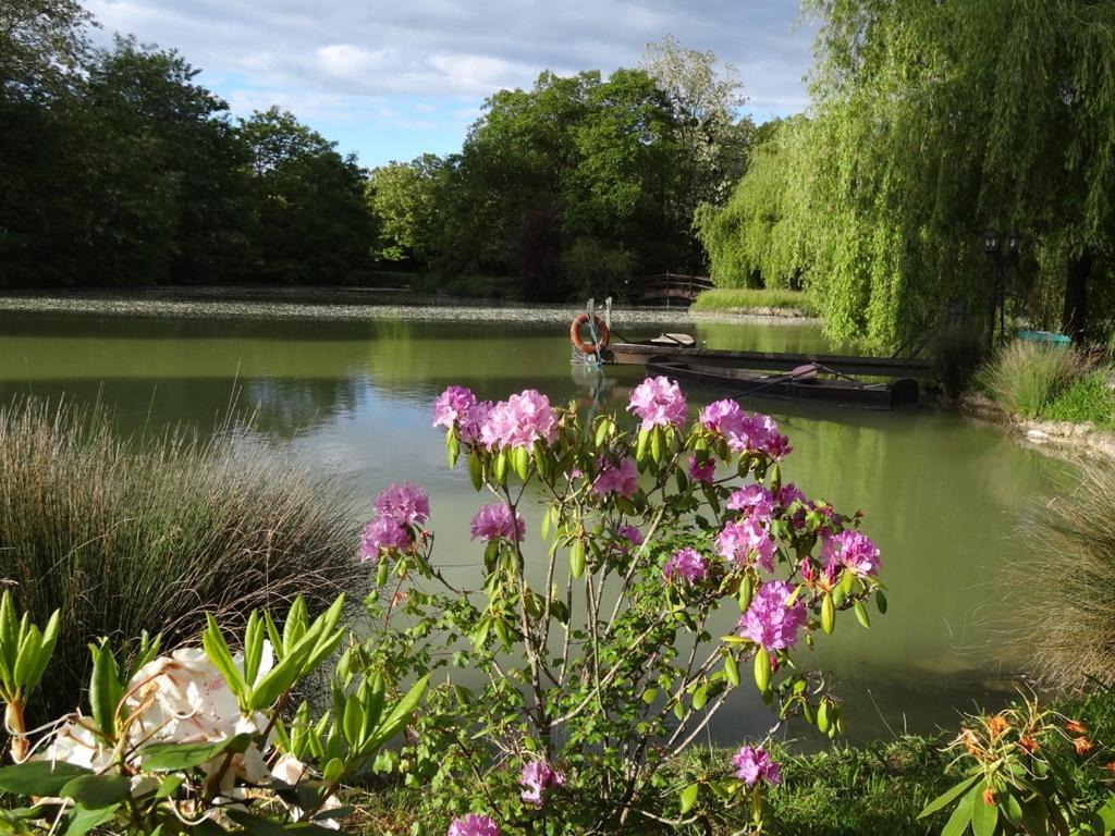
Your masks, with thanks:
[(1074, 349), (1019, 340), (999, 350), (980, 382), (1004, 409), (1038, 418), (1086, 369), (1087, 360)]

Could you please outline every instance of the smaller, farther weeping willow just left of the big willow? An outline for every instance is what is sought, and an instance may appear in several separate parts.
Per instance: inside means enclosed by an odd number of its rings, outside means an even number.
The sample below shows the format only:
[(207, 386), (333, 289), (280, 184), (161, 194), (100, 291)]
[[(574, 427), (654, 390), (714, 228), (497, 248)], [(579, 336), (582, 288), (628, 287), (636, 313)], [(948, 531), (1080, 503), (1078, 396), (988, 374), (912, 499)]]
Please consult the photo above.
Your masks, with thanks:
[(695, 226), (721, 288), (799, 288), (809, 260), (805, 164), (809, 125), (802, 116), (777, 126), (752, 154), (723, 208), (698, 208)]

